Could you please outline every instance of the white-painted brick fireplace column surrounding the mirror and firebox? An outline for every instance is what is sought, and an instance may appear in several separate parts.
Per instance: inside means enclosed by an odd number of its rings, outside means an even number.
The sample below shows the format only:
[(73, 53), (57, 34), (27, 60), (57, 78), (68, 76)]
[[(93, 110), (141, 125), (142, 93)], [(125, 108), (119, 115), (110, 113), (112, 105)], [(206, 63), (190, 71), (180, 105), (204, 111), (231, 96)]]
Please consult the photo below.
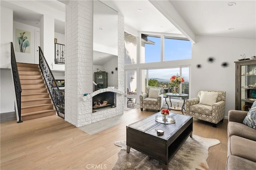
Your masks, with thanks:
[[(92, 3), (70, 1), (66, 5), (65, 120), (76, 127), (124, 112), (124, 17), (118, 14), (118, 90), (92, 93)], [(116, 107), (92, 113), (92, 97), (106, 91), (117, 93)], [(85, 93), (90, 95), (83, 97)]]

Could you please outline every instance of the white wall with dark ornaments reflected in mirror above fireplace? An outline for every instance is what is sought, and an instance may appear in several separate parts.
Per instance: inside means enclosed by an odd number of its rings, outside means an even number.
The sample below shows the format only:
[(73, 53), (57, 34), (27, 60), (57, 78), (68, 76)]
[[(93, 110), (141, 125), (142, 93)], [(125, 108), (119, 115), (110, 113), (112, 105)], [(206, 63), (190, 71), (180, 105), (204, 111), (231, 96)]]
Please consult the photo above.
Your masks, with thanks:
[(118, 87), (118, 70), (116, 70), (116, 67), (118, 67), (118, 57), (112, 57), (110, 61), (103, 65), (104, 70), (108, 72), (108, 86)]

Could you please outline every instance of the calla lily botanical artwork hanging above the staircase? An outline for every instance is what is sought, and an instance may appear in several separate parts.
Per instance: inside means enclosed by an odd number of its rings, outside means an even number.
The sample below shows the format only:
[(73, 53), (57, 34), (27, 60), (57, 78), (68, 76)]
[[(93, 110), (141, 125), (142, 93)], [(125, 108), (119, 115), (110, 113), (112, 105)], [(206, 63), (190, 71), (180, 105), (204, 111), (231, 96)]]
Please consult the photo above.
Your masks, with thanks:
[(30, 54), (31, 33), (22, 29), (16, 29), (15, 51)]

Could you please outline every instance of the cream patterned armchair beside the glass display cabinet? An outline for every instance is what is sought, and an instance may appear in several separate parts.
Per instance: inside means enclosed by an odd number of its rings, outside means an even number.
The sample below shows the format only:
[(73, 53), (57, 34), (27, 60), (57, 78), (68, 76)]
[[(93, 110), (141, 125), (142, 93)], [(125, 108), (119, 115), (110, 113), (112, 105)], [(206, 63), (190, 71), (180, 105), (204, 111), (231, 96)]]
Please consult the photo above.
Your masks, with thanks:
[(226, 92), (200, 90), (197, 98), (186, 100), (186, 115), (213, 123), (213, 127), (223, 121)]

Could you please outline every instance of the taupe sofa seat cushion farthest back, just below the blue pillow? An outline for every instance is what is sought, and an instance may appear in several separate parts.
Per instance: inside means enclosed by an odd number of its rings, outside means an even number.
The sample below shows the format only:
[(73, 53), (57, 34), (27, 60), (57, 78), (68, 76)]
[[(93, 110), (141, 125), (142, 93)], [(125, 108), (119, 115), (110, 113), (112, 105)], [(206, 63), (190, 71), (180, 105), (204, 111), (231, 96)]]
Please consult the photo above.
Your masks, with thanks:
[(236, 136), (244, 137), (246, 139), (250, 139), (252, 141), (256, 141), (255, 134), (256, 134), (256, 129), (253, 129), (242, 123), (237, 123), (234, 121), (228, 122), (228, 137), (230, 137), (231, 135), (236, 135)]

